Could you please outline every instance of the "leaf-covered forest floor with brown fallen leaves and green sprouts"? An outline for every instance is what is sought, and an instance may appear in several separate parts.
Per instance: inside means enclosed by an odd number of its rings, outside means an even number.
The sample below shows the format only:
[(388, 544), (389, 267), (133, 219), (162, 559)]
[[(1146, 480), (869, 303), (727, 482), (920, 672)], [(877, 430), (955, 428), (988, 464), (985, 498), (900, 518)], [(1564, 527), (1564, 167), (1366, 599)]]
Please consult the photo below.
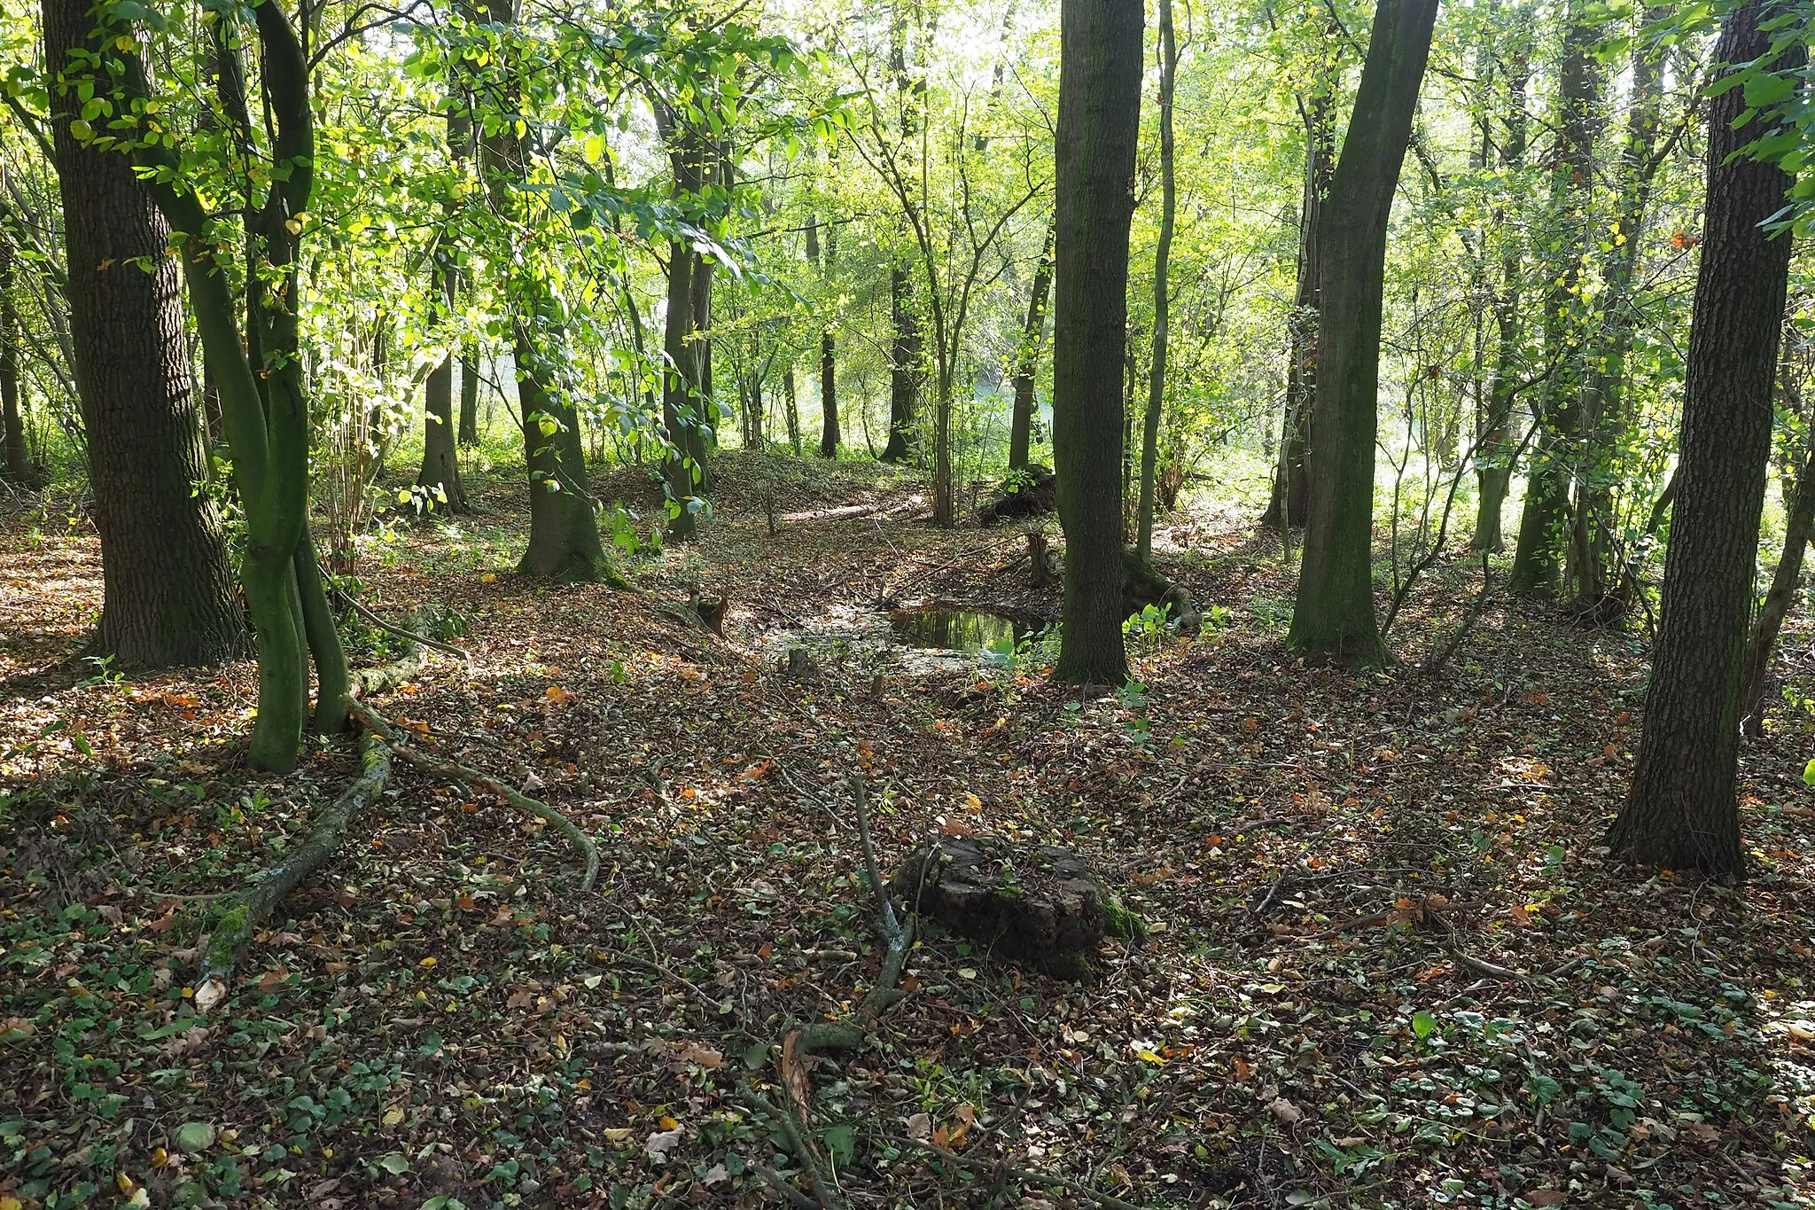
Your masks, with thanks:
[[(929, 932), (868, 1045), (811, 1070), (826, 1205), (1815, 1205), (1808, 706), (1744, 746), (1753, 876), (1639, 876), (1599, 840), (1641, 644), (1496, 595), (1425, 675), (1477, 568), (1412, 595), (1396, 668), (1305, 669), (1278, 539), (1196, 504), (1158, 546), (1203, 635), (1080, 700), (1038, 646), (875, 640), (882, 599), (1058, 600), (1016, 532), (937, 532), (869, 464), (726, 457), (697, 548), (626, 551), (648, 595), (517, 579), (523, 488), (477, 488), (483, 515), (365, 551), (374, 610), (439, 604), (472, 653), (376, 706), (539, 784), (597, 889), (555, 829), (399, 764), (205, 1016), (194, 896), (280, 860), (350, 746), (254, 773), (250, 664), (83, 662), (91, 530), (5, 526), (0, 1210), (782, 1205), (764, 1168), (815, 1205), (751, 1092), (877, 978), (853, 773), (886, 869), (937, 834), (1062, 844), (1151, 932), (1082, 983)], [(695, 584), (726, 642), (655, 606)], [(809, 682), (777, 668), (802, 635)]]

